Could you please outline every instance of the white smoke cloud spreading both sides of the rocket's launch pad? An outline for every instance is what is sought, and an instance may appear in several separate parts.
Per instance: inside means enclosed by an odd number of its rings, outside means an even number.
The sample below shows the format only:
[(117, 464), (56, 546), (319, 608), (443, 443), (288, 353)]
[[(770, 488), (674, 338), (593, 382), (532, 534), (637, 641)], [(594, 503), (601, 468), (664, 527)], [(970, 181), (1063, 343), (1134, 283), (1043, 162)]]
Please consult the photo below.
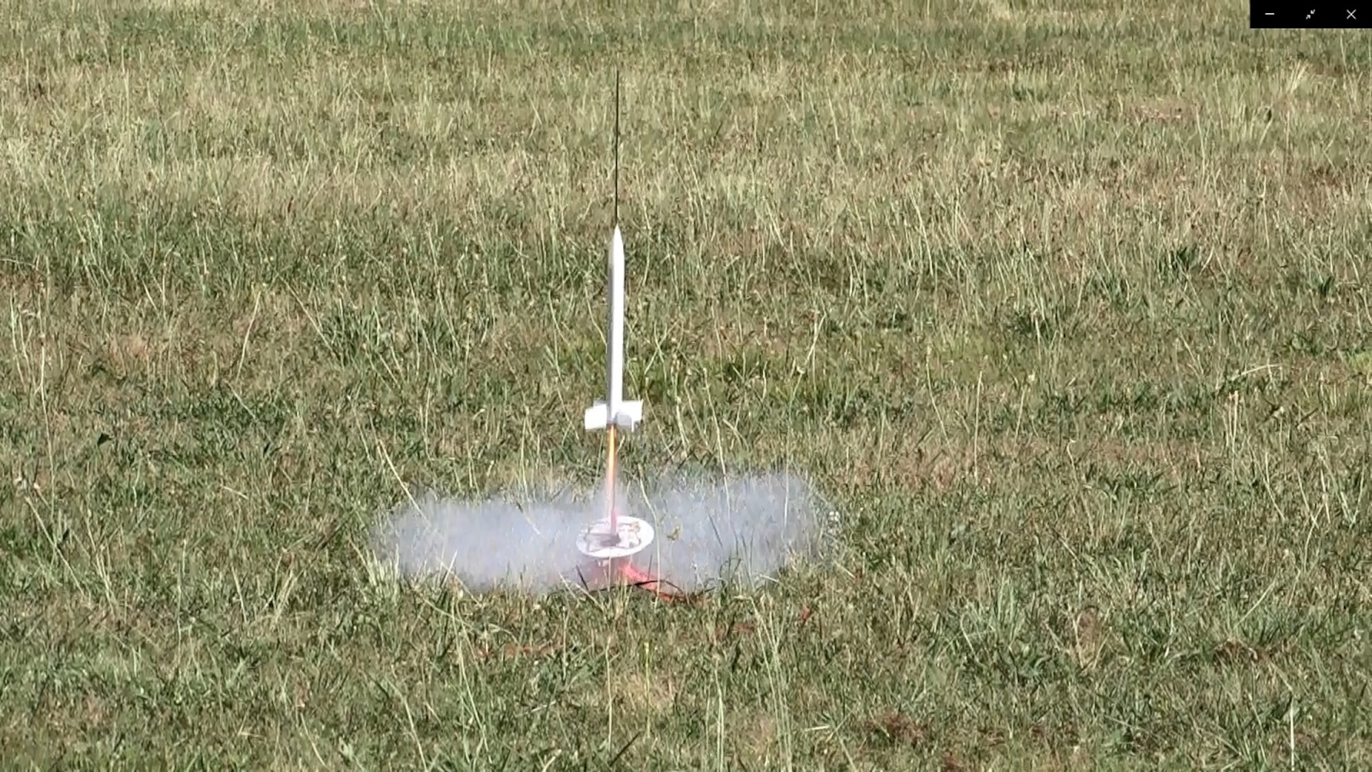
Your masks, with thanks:
[[(785, 474), (708, 479), (678, 475), (630, 484), (619, 512), (648, 521), (657, 538), (634, 563), (682, 591), (720, 580), (755, 585), (833, 538), (833, 512), (808, 481)], [(604, 516), (604, 493), (406, 501), (373, 534), (377, 556), (407, 576), (447, 576), (468, 589), (547, 592), (582, 584), (580, 530)]]

